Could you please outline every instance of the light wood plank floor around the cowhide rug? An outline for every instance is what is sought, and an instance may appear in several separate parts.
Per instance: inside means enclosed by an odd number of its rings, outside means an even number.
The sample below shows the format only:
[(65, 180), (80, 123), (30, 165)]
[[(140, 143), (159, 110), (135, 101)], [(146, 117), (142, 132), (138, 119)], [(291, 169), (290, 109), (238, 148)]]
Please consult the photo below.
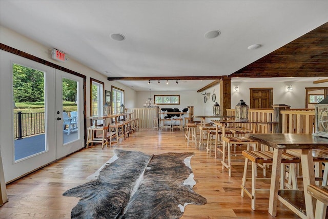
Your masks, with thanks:
[[(184, 135), (176, 130), (139, 129), (119, 147), (115, 144), (101, 150), (101, 146), (96, 145), (73, 153), (7, 185), (9, 202), (0, 207), (0, 218), (70, 218), (78, 199), (62, 194), (87, 182), (86, 177), (108, 161), (114, 149), (148, 154), (195, 153), (191, 159), (196, 181), (193, 189), (206, 197), (208, 203), (188, 205), (182, 218), (299, 218), (281, 203), (278, 204), (277, 217), (272, 217), (268, 213), (269, 194), (257, 196), (256, 211), (253, 211), (251, 199), (247, 195), (240, 196), (243, 166), (234, 166), (232, 177), (229, 177), (227, 169), (222, 170), (221, 156), (215, 160), (204, 148), (187, 147)], [(260, 187), (269, 188), (270, 185), (262, 183)]]

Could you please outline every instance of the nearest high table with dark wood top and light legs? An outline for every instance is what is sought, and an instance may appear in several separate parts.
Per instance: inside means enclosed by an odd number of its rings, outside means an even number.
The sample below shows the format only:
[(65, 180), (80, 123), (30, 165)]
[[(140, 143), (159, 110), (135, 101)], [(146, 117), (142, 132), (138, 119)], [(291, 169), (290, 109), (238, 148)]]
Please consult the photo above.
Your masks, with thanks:
[[(272, 216), (277, 214), (277, 202), (281, 201), (285, 206), (290, 208), (301, 218), (314, 218), (314, 198), (308, 194), (307, 187), (315, 184), (314, 164), (312, 157), (312, 149), (327, 149), (328, 138), (314, 136), (312, 134), (249, 134), (252, 140), (258, 141), (260, 144), (273, 148), (273, 164), (271, 173), (269, 213)], [(280, 164), (282, 150), (300, 149), (301, 164), (303, 174), (303, 189), (306, 213), (301, 209), (289, 203), (283, 196), (283, 192), (279, 191)], [(302, 191), (296, 191), (302, 192)]]

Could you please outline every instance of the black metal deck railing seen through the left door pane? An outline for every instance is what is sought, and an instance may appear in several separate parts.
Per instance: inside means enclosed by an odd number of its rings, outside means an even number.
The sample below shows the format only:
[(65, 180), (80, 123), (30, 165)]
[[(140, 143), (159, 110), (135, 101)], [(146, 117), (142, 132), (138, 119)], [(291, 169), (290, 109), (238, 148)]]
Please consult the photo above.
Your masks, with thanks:
[(45, 133), (45, 113), (14, 113), (14, 139)]

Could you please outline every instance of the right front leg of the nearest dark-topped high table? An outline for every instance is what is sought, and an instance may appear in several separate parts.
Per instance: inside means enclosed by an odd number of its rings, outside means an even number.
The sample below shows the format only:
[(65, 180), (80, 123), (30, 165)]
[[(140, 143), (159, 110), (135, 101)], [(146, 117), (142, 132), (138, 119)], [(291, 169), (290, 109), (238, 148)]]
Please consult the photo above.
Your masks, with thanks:
[(306, 217), (314, 218), (315, 198), (308, 193), (308, 185), (315, 184), (315, 175), (313, 170), (313, 157), (311, 149), (302, 149), (301, 154), (303, 188), (305, 198)]

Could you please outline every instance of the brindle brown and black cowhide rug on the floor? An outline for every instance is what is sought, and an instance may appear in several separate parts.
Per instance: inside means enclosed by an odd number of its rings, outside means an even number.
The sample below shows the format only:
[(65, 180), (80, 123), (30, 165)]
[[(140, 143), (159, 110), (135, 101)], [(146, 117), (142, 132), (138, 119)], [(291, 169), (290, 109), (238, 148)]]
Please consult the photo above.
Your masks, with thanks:
[(79, 197), (71, 218), (179, 218), (186, 205), (207, 203), (192, 190), (194, 153), (115, 154), (92, 181), (63, 194)]

